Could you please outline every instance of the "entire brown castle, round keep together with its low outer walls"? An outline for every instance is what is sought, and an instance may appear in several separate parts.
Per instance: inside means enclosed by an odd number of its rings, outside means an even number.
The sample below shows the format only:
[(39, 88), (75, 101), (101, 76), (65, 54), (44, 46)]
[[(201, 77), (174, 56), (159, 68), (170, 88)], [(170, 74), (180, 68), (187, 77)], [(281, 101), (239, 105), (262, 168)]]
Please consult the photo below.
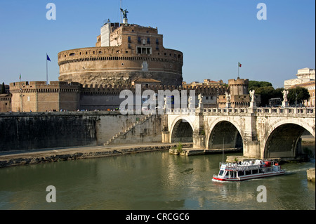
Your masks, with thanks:
[(1, 96), (0, 111), (112, 110), (124, 100), (119, 93), (135, 92), (136, 84), (155, 92), (195, 90), (196, 98), (203, 95), (204, 107), (225, 107), (225, 92), (231, 92), (232, 107), (249, 105), (248, 79), (230, 79), (228, 87), (210, 79), (186, 84), (183, 53), (164, 48), (157, 28), (129, 24), (128, 12), (121, 11), (123, 22), (106, 22), (95, 47), (58, 53), (59, 81), (11, 83), (10, 93)]

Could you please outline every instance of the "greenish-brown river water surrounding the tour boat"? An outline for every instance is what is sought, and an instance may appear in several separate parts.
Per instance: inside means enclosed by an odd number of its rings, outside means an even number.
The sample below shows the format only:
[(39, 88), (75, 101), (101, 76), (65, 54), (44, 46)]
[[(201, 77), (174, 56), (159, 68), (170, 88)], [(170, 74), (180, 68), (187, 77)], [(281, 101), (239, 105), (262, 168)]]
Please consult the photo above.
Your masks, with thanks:
[[(0, 169), (0, 209), (315, 209), (315, 162), (284, 164), (284, 176), (237, 183), (211, 181), (222, 154), (128, 154)], [(57, 202), (46, 202), (54, 185)], [(258, 203), (257, 187), (267, 188)]]

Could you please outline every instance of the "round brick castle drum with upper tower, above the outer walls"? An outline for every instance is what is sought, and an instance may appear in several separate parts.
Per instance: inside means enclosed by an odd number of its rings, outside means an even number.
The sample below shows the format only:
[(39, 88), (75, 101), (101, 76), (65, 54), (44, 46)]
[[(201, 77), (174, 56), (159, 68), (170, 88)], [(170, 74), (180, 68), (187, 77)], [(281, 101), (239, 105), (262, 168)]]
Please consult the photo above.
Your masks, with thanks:
[(158, 29), (107, 22), (95, 47), (58, 53), (60, 81), (83, 85), (130, 86), (136, 79), (155, 79), (162, 85), (180, 86), (183, 53), (164, 48)]

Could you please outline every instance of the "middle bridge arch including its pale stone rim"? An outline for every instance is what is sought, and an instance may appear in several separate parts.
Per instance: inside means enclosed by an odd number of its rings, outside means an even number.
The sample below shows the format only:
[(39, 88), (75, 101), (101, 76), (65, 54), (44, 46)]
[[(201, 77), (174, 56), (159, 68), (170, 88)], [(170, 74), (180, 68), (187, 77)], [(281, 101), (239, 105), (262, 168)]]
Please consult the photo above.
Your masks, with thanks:
[(207, 133), (207, 149), (243, 147), (241, 128), (239, 124), (230, 119), (215, 119), (209, 125)]

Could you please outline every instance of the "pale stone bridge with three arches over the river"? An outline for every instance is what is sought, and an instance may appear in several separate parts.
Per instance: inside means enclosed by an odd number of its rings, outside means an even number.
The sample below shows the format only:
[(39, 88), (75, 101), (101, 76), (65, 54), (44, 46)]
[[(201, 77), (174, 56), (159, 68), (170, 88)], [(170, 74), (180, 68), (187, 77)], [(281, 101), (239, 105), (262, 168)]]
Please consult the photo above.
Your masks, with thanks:
[(243, 147), (245, 157), (291, 158), (304, 131), (315, 138), (315, 108), (211, 108), (166, 110), (162, 142), (194, 147)]

